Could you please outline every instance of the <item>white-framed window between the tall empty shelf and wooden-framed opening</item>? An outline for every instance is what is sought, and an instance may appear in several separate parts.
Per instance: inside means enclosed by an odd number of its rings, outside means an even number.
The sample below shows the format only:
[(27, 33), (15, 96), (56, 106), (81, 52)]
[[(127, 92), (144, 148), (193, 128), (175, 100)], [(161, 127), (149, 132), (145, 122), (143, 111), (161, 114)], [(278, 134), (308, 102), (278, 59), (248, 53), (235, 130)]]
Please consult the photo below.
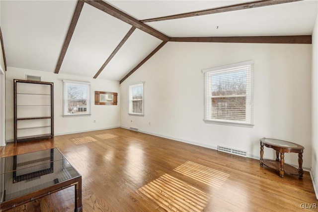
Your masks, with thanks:
[(85, 82), (63, 81), (63, 115), (90, 114), (90, 84)]

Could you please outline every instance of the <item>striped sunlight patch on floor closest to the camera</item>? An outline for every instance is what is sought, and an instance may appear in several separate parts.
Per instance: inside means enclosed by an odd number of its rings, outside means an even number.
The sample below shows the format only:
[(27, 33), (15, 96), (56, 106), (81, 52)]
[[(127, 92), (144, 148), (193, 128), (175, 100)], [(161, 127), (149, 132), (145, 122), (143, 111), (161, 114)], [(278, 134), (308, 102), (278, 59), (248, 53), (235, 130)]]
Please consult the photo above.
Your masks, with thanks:
[(206, 193), (168, 174), (141, 187), (138, 193), (168, 212), (201, 212), (210, 199)]

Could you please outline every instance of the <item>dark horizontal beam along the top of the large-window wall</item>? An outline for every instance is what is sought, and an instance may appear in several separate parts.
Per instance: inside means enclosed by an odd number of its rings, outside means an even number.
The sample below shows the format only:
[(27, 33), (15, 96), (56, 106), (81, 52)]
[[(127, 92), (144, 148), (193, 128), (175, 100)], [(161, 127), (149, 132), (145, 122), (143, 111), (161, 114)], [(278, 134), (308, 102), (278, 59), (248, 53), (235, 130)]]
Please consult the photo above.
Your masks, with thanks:
[(244, 36), (244, 37), (172, 37), (174, 42), (210, 43), (298, 43), (311, 44), (311, 35), (298, 36)]

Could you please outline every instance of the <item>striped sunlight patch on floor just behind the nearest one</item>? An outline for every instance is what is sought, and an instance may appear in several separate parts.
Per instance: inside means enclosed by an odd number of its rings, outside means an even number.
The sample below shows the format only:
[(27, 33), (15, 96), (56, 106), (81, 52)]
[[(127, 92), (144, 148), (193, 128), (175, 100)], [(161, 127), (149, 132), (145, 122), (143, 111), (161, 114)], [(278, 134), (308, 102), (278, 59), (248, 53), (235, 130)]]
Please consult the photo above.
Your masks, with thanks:
[(214, 188), (220, 188), (230, 176), (191, 161), (187, 161), (173, 170)]

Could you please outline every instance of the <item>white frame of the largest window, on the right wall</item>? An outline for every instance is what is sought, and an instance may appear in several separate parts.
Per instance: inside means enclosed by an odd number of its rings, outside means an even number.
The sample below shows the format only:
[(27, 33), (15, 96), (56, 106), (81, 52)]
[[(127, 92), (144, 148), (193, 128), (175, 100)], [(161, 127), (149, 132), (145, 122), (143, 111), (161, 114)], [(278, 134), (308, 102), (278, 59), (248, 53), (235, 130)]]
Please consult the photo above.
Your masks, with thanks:
[[(249, 68), (246, 71), (246, 78), (250, 79), (250, 83), (247, 83), (246, 85), (246, 95), (229, 95), (229, 96), (222, 96), (223, 98), (230, 98), (230, 97), (240, 97), (240, 96), (245, 96), (246, 101), (245, 101), (245, 115), (248, 114), (248, 118), (245, 121), (239, 121), (239, 120), (228, 120), (228, 119), (214, 119), (210, 118), (211, 117), (211, 112), (212, 112), (212, 104), (209, 104), (208, 102), (211, 101), (213, 98), (212, 96), (212, 80), (211, 77), (213, 74), (218, 74), (218, 73), (226, 73), (227, 69), (234, 69), (236, 67), (240, 66), (248, 66)], [(215, 68), (210, 68), (210, 69), (205, 69), (202, 70), (202, 73), (204, 73), (204, 122), (205, 123), (216, 123), (216, 124), (224, 124), (224, 125), (233, 125), (233, 126), (243, 126), (243, 127), (253, 127), (253, 69), (254, 69), (254, 61), (246, 61), (246, 62), (241, 62), (241, 63), (236, 63), (236, 64), (231, 64), (231, 65), (226, 65), (226, 66), (219, 66)], [(214, 96), (216, 98), (217, 96)], [(246, 116), (245, 116), (246, 117)]]

